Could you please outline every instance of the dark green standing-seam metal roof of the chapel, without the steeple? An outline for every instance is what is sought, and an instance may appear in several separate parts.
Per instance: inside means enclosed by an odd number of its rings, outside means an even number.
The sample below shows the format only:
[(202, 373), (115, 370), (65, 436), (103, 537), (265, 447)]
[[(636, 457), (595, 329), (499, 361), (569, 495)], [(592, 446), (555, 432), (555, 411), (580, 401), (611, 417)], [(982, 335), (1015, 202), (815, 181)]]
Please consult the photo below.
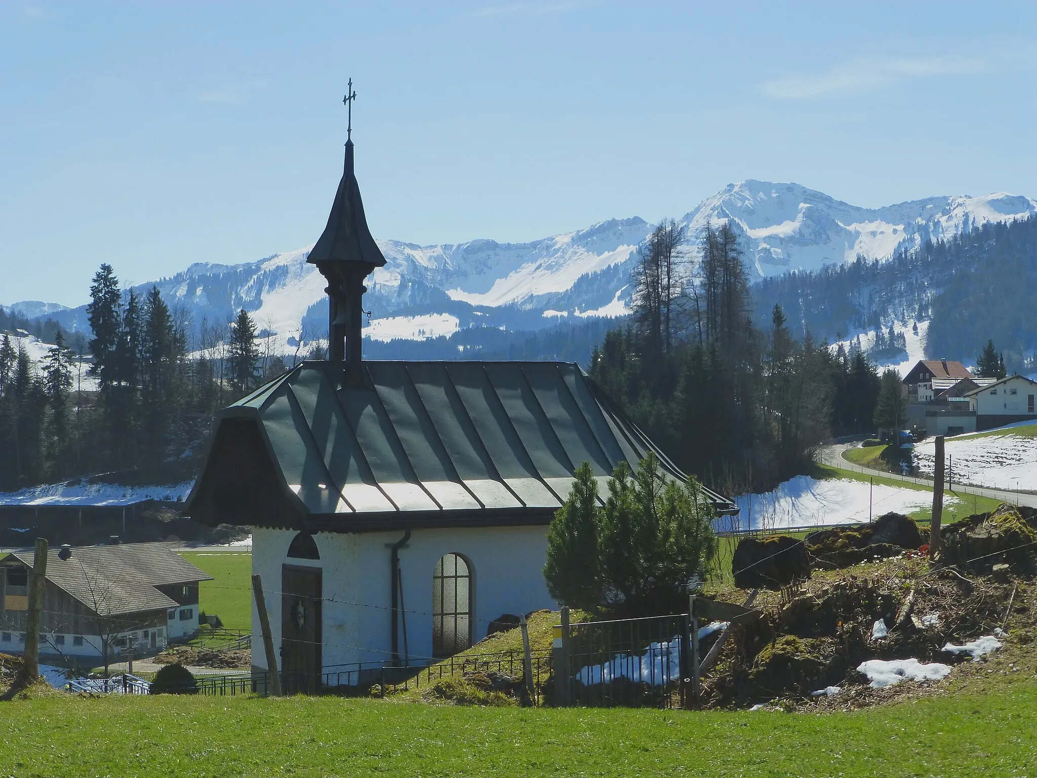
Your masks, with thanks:
[[(668, 477), (685, 478), (576, 364), (362, 364), (366, 386), (340, 388), (341, 363), (304, 362), (221, 414), (221, 428), (258, 422), (312, 529), (545, 523), (581, 463), (605, 494), (620, 462), (636, 466), (649, 451)], [(215, 508), (227, 501), (212, 492), (221, 428), (188, 501), (209, 522), (226, 521)], [(718, 510), (737, 510), (708, 496)]]

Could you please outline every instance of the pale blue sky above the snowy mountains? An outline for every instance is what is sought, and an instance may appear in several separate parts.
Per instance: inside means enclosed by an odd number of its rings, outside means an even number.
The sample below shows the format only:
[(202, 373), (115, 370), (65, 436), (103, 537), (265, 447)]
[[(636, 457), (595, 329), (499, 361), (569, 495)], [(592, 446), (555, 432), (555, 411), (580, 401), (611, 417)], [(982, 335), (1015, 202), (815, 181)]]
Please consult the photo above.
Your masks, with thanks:
[(5, 2), (0, 303), (319, 235), (527, 241), (742, 178), (1037, 197), (1033, 3)]

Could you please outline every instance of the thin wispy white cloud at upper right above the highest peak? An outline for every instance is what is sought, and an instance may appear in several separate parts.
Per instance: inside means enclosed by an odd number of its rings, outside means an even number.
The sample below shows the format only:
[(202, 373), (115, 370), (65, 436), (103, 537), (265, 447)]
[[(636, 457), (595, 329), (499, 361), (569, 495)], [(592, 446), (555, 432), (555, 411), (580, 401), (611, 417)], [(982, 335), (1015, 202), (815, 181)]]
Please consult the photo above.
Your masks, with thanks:
[(879, 89), (908, 79), (963, 76), (988, 71), (986, 61), (978, 57), (868, 57), (837, 65), (828, 73), (765, 81), (760, 88), (770, 98), (810, 100)]

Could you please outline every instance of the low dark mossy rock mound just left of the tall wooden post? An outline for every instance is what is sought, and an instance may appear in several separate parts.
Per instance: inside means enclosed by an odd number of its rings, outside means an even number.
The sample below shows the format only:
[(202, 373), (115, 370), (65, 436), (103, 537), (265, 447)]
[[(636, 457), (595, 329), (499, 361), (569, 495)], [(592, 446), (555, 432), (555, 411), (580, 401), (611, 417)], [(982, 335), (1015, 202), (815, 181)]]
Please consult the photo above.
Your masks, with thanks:
[(924, 541), (913, 519), (902, 513), (886, 513), (871, 524), (833, 527), (811, 532), (806, 537), (810, 555), (825, 567), (899, 556), (904, 549), (917, 549)]

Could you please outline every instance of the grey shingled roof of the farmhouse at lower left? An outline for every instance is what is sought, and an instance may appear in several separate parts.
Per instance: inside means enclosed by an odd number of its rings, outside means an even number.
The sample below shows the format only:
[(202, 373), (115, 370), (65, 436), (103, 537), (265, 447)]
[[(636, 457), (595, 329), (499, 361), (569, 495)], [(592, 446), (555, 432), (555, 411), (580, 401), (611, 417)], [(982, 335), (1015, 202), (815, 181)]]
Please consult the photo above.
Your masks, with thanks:
[[(47, 580), (102, 616), (175, 608), (155, 587), (213, 580), (163, 543), (79, 546), (68, 559), (60, 559), (59, 551), (48, 551)], [(9, 556), (34, 564), (32, 551)]]

